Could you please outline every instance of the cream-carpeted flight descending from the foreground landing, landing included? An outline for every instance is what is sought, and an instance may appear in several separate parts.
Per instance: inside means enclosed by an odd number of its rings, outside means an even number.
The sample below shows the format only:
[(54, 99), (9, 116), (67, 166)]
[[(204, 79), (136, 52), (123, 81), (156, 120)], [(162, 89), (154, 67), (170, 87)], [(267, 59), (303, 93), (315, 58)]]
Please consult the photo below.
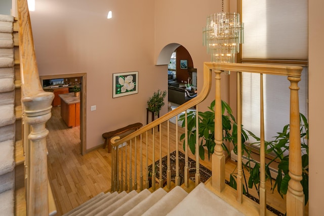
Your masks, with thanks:
[(76, 215), (244, 215), (200, 183), (190, 193), (176, 186), (130, 193), (100, 193), (64, 216)]

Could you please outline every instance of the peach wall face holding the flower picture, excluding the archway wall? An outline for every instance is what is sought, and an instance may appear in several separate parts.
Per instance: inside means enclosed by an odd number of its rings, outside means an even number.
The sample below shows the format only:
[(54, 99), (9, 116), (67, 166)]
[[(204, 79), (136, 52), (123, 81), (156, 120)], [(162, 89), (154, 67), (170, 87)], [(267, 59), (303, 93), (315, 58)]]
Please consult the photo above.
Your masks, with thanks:
[[(167, 89), (167, 66), (153, 61), (154, 2), (109, 2), (36, 0), (30, 13), (39, 74), (87, 73), (87, 149), (104, 132), (146, 122), (147, 99)], [(139, 71), (138, 94), (112, 99), (112, 74), (129, 71)]]

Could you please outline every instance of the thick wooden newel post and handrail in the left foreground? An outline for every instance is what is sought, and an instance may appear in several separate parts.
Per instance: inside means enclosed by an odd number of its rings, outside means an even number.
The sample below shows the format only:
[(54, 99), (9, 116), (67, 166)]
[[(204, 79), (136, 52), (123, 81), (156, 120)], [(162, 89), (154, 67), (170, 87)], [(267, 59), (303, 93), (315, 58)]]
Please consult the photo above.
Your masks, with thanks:
[(49, 187), (46, 146), (46, 137), (49, 133), (46, 122), (51, 118), (54, 94), (44, 92), (39, 81), (27, 0), (18, 0), (17, 9), (26, 213), (27, 215), (49, 215), (56, 212)]

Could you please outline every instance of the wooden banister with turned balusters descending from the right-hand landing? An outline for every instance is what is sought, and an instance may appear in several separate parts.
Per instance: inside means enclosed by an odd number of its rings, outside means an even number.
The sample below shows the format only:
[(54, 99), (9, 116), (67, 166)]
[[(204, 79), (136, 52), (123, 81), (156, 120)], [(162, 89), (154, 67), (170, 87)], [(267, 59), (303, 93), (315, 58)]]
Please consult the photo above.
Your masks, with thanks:
[[(170, 189), (171, 187), (171, 168), (170, 168), (170, 149), (176, 149), (176, 177), (175, 185), (179, 185), (179, 161), (178, 161), (178, 130), (182, 130), (185, 133), (185, 166), (184, 166), (184, 185), (189, 187), (189, 172), (188, 172), (188, 137), (187, 137), (187, 118), (185, 118), (185, 127), (178, 126), (178, 115), (183, 113), (187, 117), (187, 110), (190, 107), (196, 106), (196, 115), (198, 112), (198, 104), (205, 100), (208, 96), (211, 89), (212, 82), (212, 73), (215, 73), (216, 81), (216, 94), (215, 94), (215, 150), (212, 155), (212, 188), (217, 193), (223, 194), (225, 197), (233, 196), (232, 192), (225, 190), (229, 187), (225, 185), (225, 155), (222, 149), (223, 143), (223, 131), (222, 131), (222, 108), (221, 108), (221, 73), (224, 71), (237, 71), (237, 167), (242, 167), (242, 143), (240, 142), (240, 131), (241, 131), (241, 72), (250, 72), (250, 73), (259, 73), (261, 76), (261, 174), (260, 174), (260, 204), (258, 205), (259, 210), (257, 211), (258, 215), (266, 214), (266, 189), (265, 189), (265, 147), (264, 147), (264, 120), (263, 120), (263, 74), (272, 74), (287, 76), (290, 81), (290, 160), (294, 162), (289, 163), (289, 175), (291, 180), (289, 182), (289, 188), (287, 193), (287, 215), (304, 215), (304, 194), (303, 188), (301, 186), (300, 180), (302, 179), (302, 166), (301, 166), (301, 144), (300, 144), (300, 132), (299, 132), (299, 99), (298, 99), (298, 82), (301, 79), (301, 67), (297, 66), (278, 66), (278, 65), (254, 65), (254, 64), (236, 64), (236, 63), (204, 63), (204, 86), (198, 96), (185, 104), (179, 106), (178, 108), (168, 112), (164, 116), (152, 121), (151, 123), (143, 126), (134, 133), (120, 139), (119, 137), (114, 137), (111, 139), (112, 143), (112, 182), (111, 189), (112, 191), (119, 190), (137, 190), (137, 177), (135, 181), (132, 179), (132, 170), (137, 173), (137, 156), (140, 156), (140, 178), (139, 185), (140, 190), (143, 188), (149, 187), (149, 180), (152, 182), (152, 189), (155, 190), (156, 187), (163, 187), (165, 184)], [(175, 135), (169, 133), (171, 128), (169, 119), (176, 118), (175, 124)], [(196, 118), (196, 129), (198, 130), (198, 118)], [(166, 126), (165, 126), (166, 125)], [(155, 127), (159, 126), (159, 133), (155, 133)], [(161, 131), (166, 128), (167, 137), (163, 137)], [(198, 134), (198, 132), (197, 132)], [(199, 151), (197, 145), (199, 143), (199, 138), (196, 137), (196, 152)], [(172, 140), (172, 142), (171, 142)], [(140, 143), (138, 149), (137, 142)], [(158, 146), (156, 146), (158, 142)], [(135, 143), (135, 145), (133, 145)], [(144, 147), (143, 147), (144, 146)], [(159, 164), (162, 164), (162, 155), (161, 151), (167, 149), (167, 170), (166, 183), (163, 182), (161, 178), (162, 175), (159, 175), (156, 181), (156, 167), (155, 167), (155, 156), (158, 153)], [(143, 154), (144, 150), (144, 154)], [(120, 153), (121, 152), (121, 153)], [(134, 152), (134, 153), (133, 153)], [(137, 155), (138, 154), (138, 155)], [(149, 156), (151, 155), (151, 156)], [(196, 153), (196, 173), (195, 173), (195, 184), (199, 184), (200, 174), (199, 174), (199, 156)], [(143, 177), (143, 164), (142, 157), (144, 157), (146, 179)], [(291, 159), (292, 158), (292, 159)], [(133, 162), (134, 161), (134, 162)], [(132, 167), (132, 163), (135, 163), (135, 167)], [(120, 165), (119, 165), (120, 164)], [(125, 164), (125, 165), (124, 165)], [(129, 164), (129, 168), (127, 167)], [(148, 172), (148, 164), (152, 164), (152, 171)], [(161, 174), (162, 166), (159, 165), (159, 174)], [(124, 175), (125, 172), (125, 175)], [(129, 179), (127, 179), (127, 174), (129, 174)], [(143, 182), (144, 181), (144, 182)], [(237, 200), (238, 205), (243, 206), (244, 197), (243, 197), (243, 187), (242, 187), (242, 169), (238, 168), (237, 174), (237, 191), (234, 198), (226, 198), (226, 200)], [(128, 185), (127, 185), (128, 182)], [(124, 184), (124, 185), (123, 185)], [(143, 186), (145, 185), (145, 186)], [(129, 187), (129, 188), (128, 188)], [(257, 204), (256, 204), (257, 205)]]

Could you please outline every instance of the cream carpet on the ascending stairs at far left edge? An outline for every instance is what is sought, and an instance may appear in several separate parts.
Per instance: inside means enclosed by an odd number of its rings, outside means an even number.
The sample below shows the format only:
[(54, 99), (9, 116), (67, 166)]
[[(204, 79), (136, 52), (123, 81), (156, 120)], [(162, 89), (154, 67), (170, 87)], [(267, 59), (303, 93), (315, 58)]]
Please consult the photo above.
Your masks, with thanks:
[(14, 215), (14, 17), (0, 15), (0, 215)]

